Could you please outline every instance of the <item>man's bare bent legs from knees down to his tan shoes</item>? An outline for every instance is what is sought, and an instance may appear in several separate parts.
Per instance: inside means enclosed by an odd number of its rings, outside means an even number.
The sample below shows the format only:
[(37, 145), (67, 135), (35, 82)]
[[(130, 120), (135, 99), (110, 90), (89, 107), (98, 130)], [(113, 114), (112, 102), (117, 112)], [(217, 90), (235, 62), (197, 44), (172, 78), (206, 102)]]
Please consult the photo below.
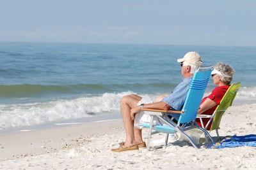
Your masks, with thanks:
[(140, 100), (140, 96), (131, 94), (129, 96), (122, 97), (120, 101), (121, 114), (126, 133), (125, 146), (134, 145), (138, 139), (142, 141), (141, 130), (134, 128), (134, 121), (131, 119), (130, 115), (131, 108), (136, 107)]

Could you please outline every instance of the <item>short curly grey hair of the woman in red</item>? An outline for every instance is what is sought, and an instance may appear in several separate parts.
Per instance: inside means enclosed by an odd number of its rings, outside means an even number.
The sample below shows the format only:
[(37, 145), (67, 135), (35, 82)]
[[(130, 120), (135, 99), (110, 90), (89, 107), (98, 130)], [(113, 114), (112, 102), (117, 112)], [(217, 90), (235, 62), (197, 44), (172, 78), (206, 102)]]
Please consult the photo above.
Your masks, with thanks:
[(229, 85), (233, 79), (233, 74), (235, 73), (234, 69), (231, 66), (229, 66), (228, 64), (224, 64), (223, 62), (218, 62), (213, 67), (217, 71), (220, 71), (220, 73), (222, 74), (222, 75), (220, 75), (221, 81), (223, 81), (223, 83)]

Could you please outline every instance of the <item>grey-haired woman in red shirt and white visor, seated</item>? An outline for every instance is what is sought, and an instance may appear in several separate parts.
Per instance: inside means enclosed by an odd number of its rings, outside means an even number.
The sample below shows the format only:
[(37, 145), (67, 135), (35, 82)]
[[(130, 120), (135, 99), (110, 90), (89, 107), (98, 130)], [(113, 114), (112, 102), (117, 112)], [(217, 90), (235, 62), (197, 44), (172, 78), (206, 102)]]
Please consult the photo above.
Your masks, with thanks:
[[(220, 104), (222, 97), (225, 95), (228, 87), (230, 86), (233, 74), (234, 69), (227, 64), (218, 62), (214, 66), (211, 76), (216, 87), (212, 90), (209, 96), (202, 99), (198, 114), (212, 115), (214, 113), (214, 110), (217, 108), (218, 104)], [(208, 120), (209, 118), (204, 118), (203, 123), (206, 124)], [(198, 125), (201, 125), (199, 118), (196, 119), (196, 122)], [(210, 128), (211, 125), (208, 127)]]

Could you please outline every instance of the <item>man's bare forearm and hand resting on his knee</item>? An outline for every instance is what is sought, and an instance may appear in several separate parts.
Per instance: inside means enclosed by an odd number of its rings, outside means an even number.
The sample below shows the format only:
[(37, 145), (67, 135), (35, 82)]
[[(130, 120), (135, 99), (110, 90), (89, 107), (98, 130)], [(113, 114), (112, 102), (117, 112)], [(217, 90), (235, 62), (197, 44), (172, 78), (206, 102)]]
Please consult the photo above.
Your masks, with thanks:
[[(149, 103), (149, 104), (144, 104), (143, 106), (144, 109), (155, 109), (155, 110), (169, 110), (171, 106), (167, 103), (164, 103), (163, 101), (159, 101), (156, 103)], [(131, 109), (131, 118), (134, 120), (135, 114), (139, 113), (141, 110), (141, 106), (137, 106), (135, 108)]]

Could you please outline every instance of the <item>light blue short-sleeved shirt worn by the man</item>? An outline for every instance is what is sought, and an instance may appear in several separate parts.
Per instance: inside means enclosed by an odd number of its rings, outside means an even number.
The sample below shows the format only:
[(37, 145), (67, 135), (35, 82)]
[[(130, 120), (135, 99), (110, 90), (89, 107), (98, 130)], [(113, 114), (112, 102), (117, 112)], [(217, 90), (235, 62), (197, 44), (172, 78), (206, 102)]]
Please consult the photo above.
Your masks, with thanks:
[(167, 103), (175, 110), (182, 110), (192, 79), (193, 76), (184, 78), (169, 96), (164, 97), (163, 102)]

